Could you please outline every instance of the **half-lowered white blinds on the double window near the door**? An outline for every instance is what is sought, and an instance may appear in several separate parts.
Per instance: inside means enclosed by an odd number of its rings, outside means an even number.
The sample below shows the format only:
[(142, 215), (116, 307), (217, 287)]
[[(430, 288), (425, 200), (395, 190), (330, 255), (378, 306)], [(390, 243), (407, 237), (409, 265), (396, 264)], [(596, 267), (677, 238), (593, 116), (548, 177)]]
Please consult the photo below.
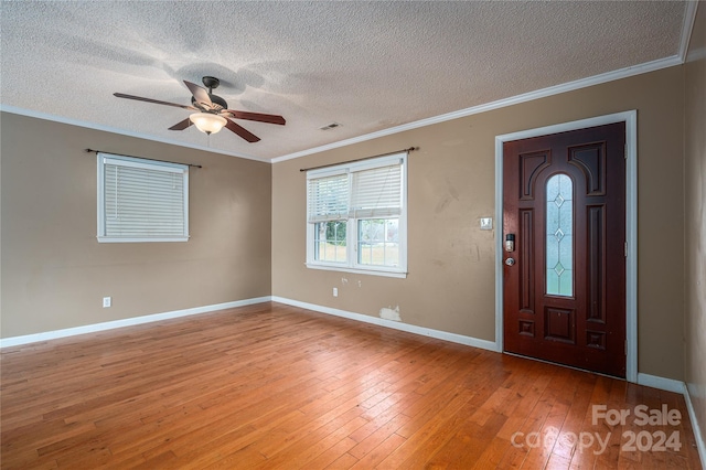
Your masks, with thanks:
[(310, 172), (307, 179), (309, 223), (402, 213), (403, 160), (399, 157)]

